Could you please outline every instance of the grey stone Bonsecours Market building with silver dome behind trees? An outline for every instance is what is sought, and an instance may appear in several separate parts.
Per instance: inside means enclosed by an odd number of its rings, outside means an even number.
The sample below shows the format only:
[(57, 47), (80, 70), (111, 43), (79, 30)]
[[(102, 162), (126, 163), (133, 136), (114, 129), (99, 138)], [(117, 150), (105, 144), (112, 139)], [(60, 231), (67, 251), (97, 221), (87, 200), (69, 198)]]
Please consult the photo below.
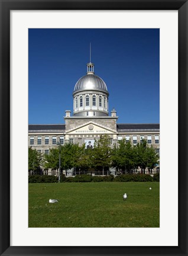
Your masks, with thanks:
[[(93, 63), (87, 64), (87, 73), (74, 86), (73, 116), (70, 110), (65, 111), (65, 124), (29, 124), (28, 146), (42, 153), (49, 153), (50, 148), (65, 142), (92, 145), (101, 135), (109, 135), (111, 145), (118, 140), (130, 140), (133, 145), (147, 140), (159, 153), (160, 125), (159, 124), (118, 124), (118, 116), (113, 109), (109, 116), (109, 92), (105, 82), (94, 73)], [(115, 173), (114, 169), (111, 170)], [(153, 172), (159, 171), (156, 167)], [(56, 175), (56, 170), (43, 170), (44, 174)], [(69, 170), (69, 175), (73, 174)]]

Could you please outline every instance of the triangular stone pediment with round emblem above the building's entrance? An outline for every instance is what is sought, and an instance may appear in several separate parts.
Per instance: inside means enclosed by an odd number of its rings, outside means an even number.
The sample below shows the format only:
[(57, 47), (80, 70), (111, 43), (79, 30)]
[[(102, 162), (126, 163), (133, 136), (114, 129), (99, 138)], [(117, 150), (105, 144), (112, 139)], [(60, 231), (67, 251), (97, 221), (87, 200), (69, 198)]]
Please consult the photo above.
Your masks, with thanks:
[(101, 124), (94, 123), (92, 121), (68, 130), (67, 134), (84, 135), (84, 134), (114, 134), (115, 130), (102, 126)]

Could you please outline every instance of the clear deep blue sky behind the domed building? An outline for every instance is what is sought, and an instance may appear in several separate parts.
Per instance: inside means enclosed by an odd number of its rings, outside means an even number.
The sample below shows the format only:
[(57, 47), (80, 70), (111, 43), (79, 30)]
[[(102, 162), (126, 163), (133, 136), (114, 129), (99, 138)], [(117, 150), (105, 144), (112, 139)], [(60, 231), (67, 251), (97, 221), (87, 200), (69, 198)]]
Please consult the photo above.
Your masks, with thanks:
[(159, 123), (159, 29), (29, 29), (29, 124), (64, 123), (72, 92), (86, 75), (89, 44), (95, 74), (109, 91), (118, 123)]

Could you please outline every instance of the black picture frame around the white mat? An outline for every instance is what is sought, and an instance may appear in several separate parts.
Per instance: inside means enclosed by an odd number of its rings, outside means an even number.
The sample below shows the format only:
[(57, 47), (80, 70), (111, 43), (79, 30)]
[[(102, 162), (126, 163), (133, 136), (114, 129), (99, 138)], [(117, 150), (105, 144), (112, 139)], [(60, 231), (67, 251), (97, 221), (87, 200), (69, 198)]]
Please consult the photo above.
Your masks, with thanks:
[[(0, 0), (1, 100), (0, 100), (0, 253), (1, 255), (188, 255), (187, 254), (187, 36), (188, 4), (185, 0)], [(177, 247), (11, 247), (10, 246), (10, 11), (54, 9), (178, 10), (179, 43), (179, 242)], [(170, 85), (169, 85), (170, 90)], [(170, 127), (173, 124), (169, 124)], [(171, 223), (173, 225), (173, 223)]]

